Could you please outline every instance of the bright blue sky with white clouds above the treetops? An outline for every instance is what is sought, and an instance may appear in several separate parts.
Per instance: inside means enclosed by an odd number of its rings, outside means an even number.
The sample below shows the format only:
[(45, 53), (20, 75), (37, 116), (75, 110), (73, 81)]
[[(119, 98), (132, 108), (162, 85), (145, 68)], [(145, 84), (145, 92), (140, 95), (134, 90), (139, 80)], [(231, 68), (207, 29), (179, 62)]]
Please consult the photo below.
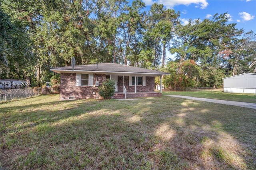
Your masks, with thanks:
[[(218, 13), (228, 12), (230, 23), (236, 23), (236, 27), (244, 28), (246, 32), (256, 32), (256, 0), (142, 0), (146, 4), (146, 10), (150, 10), (153, 3), (164, 4), (166, 8), (180, 11), (182, 24), (191, 18), (211, 19)], [(166, 58), (174, 58), (166, 51)]]

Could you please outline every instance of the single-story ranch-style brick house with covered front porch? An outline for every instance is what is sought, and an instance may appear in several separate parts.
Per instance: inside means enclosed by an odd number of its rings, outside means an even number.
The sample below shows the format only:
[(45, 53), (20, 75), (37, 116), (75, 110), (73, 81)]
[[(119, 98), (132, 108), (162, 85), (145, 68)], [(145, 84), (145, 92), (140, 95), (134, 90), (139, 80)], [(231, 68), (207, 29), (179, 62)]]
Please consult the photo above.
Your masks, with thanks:
[(169, 75), (162, 71), (132, 67), (116, 63), (98, 63), (90, 65), (76, 65), (55, 67), (51, 71), (60, 73), (60, 99), (98, 99), (98, 87), (106, 79), (114, 79), (114, 99), (135, 97), (159, 97), (160, 92), (154, 91), (155, 77), (160, 76), (162, 87), (162, 75)]

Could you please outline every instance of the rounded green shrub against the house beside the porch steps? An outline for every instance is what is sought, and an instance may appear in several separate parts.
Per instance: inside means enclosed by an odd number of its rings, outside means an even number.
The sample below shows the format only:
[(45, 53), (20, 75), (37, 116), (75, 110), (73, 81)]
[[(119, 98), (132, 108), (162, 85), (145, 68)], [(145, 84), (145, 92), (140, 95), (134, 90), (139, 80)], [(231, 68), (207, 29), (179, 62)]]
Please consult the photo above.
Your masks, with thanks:
[(115, 92), (115, 82), (112, 79), (107, 79), (102, 83), (102, 86), (99, 87), (99, 94), (104, 99), (110, 99)]

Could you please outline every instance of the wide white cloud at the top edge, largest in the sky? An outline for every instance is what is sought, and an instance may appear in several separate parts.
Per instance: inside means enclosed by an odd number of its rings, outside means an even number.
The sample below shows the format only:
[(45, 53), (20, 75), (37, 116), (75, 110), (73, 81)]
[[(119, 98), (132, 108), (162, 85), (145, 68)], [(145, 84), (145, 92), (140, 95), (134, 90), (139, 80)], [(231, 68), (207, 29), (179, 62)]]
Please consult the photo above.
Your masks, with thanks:
[(206, 0), (142, 0), (147, 6), (152, 5), (154, 3), (163, 4), (168, 8), (173, 8), (177, 5), (190, 5), (197, 4), (201, 6), (201, 9), (204, 9), (208, 6), (208, 2)]

